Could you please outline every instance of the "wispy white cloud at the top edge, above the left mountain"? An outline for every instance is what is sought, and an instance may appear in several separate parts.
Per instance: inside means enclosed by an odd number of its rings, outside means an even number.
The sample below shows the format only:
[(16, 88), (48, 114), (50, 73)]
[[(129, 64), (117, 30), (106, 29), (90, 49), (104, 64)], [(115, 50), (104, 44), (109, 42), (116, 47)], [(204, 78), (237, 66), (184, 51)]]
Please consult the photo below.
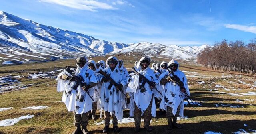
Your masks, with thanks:
[(116, 10), (109, 4), (98, 2), (95, 0), (40, 0), (40, 2), (47, 2), (52, 4), (58, 4), (61, 6), (66, 6), (70, 8), (75, 8), (79, 10), (97, 11), (96, 9), (106, 9), (106, 10)]

